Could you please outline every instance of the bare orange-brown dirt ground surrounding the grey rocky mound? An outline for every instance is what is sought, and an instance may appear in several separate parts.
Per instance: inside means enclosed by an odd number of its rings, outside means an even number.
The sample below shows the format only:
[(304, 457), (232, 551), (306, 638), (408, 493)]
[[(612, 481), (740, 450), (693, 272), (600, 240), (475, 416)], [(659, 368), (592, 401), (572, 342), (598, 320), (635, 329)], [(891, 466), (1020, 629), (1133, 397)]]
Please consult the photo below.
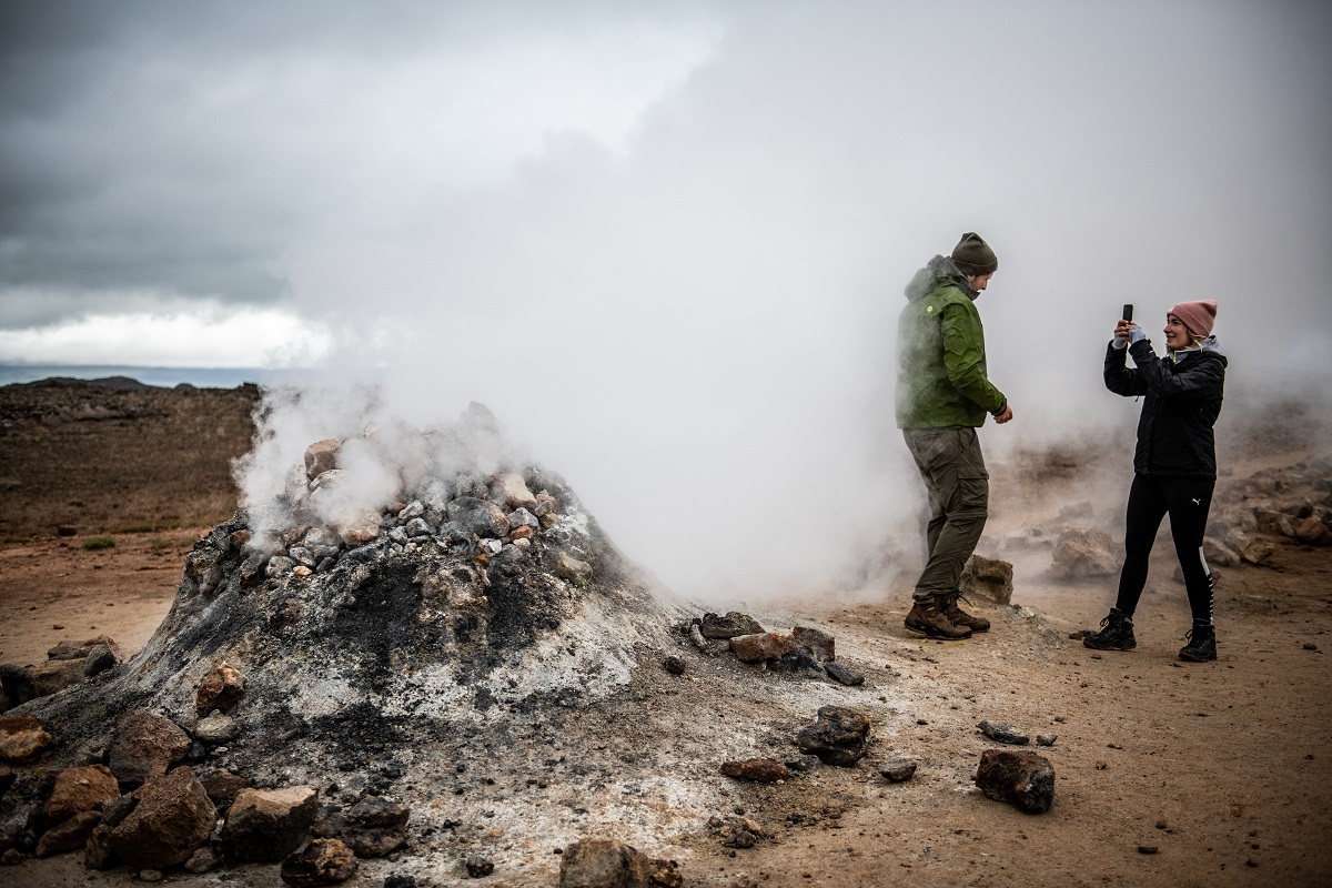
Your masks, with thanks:
[[(0, 656), (36, 662), (60, 639), (96, 634), (132, 654), (168, 610), (198, 533), (123, 535), (99, 551), (79, 538), (4, 546)], [(1220, 660), (1205, 664), (1176, 660), (1188, 611), (1172, 568), (1171, 547), (1159, 545), (1132, 652), (1068, 638), (1104, 614), (1110, 580), (1056, 586), (1019, 570), (1014, 602), (1026, 610), (982, 604), (994, 628), (951, 643), (902, 628), (904, 584), (791, 602), (781, 608), (791, 622), (831, 631), (842, 658), (870, 676), (871, 755), (787, 784), (734, 783), (734, 812), (771, 833), (755, 848), (723, 848), (706, 833), (641, 847), (681, 860), (687, 885), (1332, 884), (1332, 550), (1283, 545), (1269, 566), (1219, 571)], [(682, 719), (727, 718), (723, 700), (681, 698)], [(972, 788), (979, 752), (994, 746), (976, 731), (986, 718), (1058, 735), (1039, 750), (1056, 771), (1048, 813), (1024, 815)], [(919, 771), (888, 784), (875, 764), (899, 755)], [(549, 860), (486, 881), (554, 884), (558, 856)], [(370, 861), (352, 884), (378, 885), (393, 871)], [(281, 884), (276, 867), (168, 880)], [(80, 855), (64, 855), (0, 871), (0, 881), (124, 885), (129, 876), (87, 873)]]

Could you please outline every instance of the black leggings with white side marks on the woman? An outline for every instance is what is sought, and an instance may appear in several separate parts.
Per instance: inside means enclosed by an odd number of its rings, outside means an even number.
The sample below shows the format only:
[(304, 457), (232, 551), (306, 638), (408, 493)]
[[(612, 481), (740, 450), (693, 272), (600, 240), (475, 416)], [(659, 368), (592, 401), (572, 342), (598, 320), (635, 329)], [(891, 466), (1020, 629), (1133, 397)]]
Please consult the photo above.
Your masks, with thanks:
[(1115, 607), (1134, 615), (1147, 583), (1147, 558), (1152, 554), (1162, 518), (1169, 514), (1175, 554), (1184, 568), (1184, 588), (1193, 619), (1212, 622), (1212, 571), (1203, 558), (1203, 534), (1212, 507), (1215, 478), (1162, 478), (1134, 475), (1128, 491), (1128, 526), (1124, 531), (1124, 570), (1119, 574)]

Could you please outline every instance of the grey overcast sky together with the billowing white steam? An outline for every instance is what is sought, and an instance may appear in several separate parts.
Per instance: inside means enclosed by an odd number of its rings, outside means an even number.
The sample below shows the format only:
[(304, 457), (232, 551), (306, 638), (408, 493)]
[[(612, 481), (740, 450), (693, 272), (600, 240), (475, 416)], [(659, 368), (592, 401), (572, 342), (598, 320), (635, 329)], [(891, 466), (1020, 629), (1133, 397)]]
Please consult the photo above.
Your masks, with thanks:
[(791, 550), (778, 510), (867, 521), (902, 288), (966, 230), (992, 439), (1131, 422), (1123, 302), (1217, 300), (1236, 390), (1327, 377), (1328, 7), (7, 0), (0, 362), (476, 398), (641, 549), (686, 491), (746, 502), (713, 555)]

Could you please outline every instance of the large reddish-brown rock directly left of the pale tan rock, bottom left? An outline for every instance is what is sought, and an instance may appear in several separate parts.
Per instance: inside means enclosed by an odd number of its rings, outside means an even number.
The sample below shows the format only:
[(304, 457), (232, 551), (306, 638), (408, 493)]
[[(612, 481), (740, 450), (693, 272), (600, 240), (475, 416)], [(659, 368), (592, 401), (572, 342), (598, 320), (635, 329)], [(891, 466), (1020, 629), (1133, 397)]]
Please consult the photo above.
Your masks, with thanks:
[(149, 777), (135, 795), (139, 804), (108, 839), (132, 871), (182, 864), (213, 832), (217, 811), (190, 768)]

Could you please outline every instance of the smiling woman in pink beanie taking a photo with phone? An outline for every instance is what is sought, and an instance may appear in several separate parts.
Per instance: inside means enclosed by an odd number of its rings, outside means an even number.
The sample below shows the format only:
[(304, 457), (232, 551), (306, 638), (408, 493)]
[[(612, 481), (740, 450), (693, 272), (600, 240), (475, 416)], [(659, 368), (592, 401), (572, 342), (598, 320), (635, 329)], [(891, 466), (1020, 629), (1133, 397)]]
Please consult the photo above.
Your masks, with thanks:
[[(1216, 302), (1181, 302), (1166, 320), (1167, 357), (1156, 357), (1142, 328), (1130, 321), (1119, 322), (1106, 349), (1106, 387), (1124, 397), (1146, 398), (1138, 421), (1119, 598), (1100, 622), (1099, 632), (1083, 632), (1087, 647), (1103, 651), (1136, 647), (1134, 610), (1147, 583), (1152, 542), (1168, 514), (1193, 611), (1193, 628), (1179, 658), (1216, 659), (1212, 572), (1203, 558), (1203, 533), (1216, 487), (1212, 426), (1221, 411), (1225, 386), (1225, 357), (1212, 335), (1215, 320)], [(1126, 353), (1134, 357), (1136, 369), (1126, 365)]]

